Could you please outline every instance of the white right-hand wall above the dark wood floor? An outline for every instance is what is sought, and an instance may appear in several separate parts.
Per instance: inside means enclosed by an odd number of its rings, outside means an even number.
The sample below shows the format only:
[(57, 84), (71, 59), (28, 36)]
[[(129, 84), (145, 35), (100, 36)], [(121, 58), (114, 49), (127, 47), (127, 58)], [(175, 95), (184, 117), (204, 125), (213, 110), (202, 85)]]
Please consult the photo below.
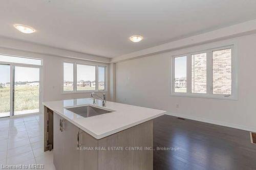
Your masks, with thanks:
[[(169, 114), (256, 131), (256, 34), (189, 47), (116, 64), (116, 101)], [(235, 43), (238, 101), (169, 96), (170, 56)], [(177, 104), (179, 107), (177, 107)]]

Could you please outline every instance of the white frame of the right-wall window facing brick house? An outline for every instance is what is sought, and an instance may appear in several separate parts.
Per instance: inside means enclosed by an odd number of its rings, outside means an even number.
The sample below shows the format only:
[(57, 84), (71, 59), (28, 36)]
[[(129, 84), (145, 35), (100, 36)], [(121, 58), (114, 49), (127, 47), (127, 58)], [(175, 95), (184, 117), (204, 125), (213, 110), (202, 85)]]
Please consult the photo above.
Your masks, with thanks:
[[(212, 93), (212, 52), (231, 48), (231, 95)], [(206, 53), (206, 93), (192, 93), (191, 91), (191, 55)], [(175, 58), (187, 57), (187, 92), (175, 92)], [(183, 96), (192, 98), (209, 98), (221, 100), (238, 100), (238, 59), (235, 44), (221, 47), (209, 48), (191, 53), (175, 55), (170, 57), (170, 96)]]

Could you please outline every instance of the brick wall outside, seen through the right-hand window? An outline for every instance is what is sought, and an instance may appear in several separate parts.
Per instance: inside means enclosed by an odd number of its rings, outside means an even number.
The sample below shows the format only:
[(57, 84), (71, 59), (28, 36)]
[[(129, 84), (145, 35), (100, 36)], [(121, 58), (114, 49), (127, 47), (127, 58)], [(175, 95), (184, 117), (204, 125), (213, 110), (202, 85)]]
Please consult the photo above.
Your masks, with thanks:
[[(191, 55), (191, 91), (206, 93), (206, 77), (206, 53)], [(231, 94), (230, 48), (212, 52), (212, 93)]]

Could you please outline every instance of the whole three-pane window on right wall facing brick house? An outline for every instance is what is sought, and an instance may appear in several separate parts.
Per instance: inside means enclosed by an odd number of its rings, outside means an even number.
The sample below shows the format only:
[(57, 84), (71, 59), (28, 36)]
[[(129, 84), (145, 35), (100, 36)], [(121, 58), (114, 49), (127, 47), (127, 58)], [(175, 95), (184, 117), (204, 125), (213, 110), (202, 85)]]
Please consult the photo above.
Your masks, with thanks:
[(237, 100), (233, 45), (172, 57), (171, 95)]

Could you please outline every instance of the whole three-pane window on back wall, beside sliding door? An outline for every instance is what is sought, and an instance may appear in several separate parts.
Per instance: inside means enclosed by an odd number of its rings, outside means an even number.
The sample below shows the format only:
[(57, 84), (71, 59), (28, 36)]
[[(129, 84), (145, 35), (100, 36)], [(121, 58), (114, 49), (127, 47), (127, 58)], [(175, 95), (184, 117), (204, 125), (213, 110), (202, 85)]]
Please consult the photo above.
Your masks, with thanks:
[(63, 92), (105, 91), (105, 82), (106, 66), (63, 62)]

